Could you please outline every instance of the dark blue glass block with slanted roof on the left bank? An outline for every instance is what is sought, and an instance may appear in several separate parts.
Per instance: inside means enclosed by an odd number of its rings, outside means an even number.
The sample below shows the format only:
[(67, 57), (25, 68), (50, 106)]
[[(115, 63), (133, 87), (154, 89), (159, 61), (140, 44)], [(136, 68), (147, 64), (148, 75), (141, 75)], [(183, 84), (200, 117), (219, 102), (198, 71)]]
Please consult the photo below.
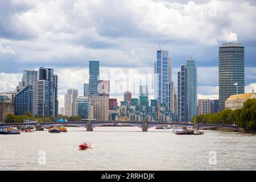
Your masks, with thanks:
[(22, 115), (26, 111), (33, 113), (33, 89), (32, 85), (27, 85), (14, 97), (14, 114), (15, 115)]

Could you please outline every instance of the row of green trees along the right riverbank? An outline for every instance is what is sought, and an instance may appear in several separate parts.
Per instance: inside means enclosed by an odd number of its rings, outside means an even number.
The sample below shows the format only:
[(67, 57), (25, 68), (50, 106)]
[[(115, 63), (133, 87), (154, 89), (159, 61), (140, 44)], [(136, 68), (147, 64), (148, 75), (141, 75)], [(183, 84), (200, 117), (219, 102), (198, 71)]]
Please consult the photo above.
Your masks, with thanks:
[(201, 114), (192, 118), (192, 122), (233, 125), (247, 129), (256, 129), (256, 99), (247, 100), (241, 109), (226, 109), (220, 113)]

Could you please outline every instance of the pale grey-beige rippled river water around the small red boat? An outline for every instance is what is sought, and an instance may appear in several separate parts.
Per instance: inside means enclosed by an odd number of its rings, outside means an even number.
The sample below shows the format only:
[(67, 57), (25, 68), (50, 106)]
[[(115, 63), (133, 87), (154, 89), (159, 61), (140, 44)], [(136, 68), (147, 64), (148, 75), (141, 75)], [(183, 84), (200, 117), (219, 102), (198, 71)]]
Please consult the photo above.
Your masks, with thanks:
[[(255, 170), (256, 135), (98, 127), (0, 135), (0, 170)], [(92, 149), (78, 150), (90, 142)]]

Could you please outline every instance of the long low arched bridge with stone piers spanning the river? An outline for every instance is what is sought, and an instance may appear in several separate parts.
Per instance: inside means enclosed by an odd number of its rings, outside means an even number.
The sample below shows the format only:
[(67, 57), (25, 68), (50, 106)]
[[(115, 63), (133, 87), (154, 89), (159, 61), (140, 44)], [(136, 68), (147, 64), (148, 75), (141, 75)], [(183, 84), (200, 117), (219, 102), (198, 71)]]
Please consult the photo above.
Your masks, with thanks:
[[(97, 120), (82, 120), (82, 121), (69, 121), (69, 122), (41, 122), (41, 123), (0, 123), (0, 127), (19, 127), (24, 125), (33, 125), (36, 127), (36, 130), (43, 130), (46, 127), (51, 127), (55, 125), (66, 125), (66, 126), (78, 126), (78, 127), (84, 127), (87, 131), (93, 131), (94, 128), (110, 125), (110, 124), (124, 124), (124, 125), (130, 125), (139, 127), (142, 129), (142, 131), (147, 131), (148, 129), (156, 126), (163, 126), (163, 125), (172, 125), (172, 126), (178, 126), (178, 127), (188, 127), (188, 126), (195, 126), (194, 123), (190, 122), (137, 122), (137, 121), (97, 121)], [(200, 130), (203, 129), (209, 129), (209, 128), (224, 128), (224, 129), (230, 129), (234, 131), (238, 131), (238, 127), (234, 125), (219, 125), (219, 124), (209, 124), (209, 123), (199, 123), (197, 125), (197, 128)]]

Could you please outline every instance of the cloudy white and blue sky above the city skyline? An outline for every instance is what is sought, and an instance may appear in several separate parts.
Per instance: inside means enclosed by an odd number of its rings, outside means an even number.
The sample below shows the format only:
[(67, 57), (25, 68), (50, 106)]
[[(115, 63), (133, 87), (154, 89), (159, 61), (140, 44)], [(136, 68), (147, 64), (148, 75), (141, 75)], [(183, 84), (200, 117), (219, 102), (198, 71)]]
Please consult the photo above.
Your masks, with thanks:
[(256, 90), (256, 2), (168, 0), (0, 0), (0, 92), (15, 90), (24, 69), (53, 68), (60, 106), (67, 89), (88, 82), (89, 60), (100, 61), (110, 97), (153, 97), (160, 47), (172, 58), (172, 80), (190, 55), (199, 98), (218, 98), (218, 48), (245, 46), (245, 91)]

